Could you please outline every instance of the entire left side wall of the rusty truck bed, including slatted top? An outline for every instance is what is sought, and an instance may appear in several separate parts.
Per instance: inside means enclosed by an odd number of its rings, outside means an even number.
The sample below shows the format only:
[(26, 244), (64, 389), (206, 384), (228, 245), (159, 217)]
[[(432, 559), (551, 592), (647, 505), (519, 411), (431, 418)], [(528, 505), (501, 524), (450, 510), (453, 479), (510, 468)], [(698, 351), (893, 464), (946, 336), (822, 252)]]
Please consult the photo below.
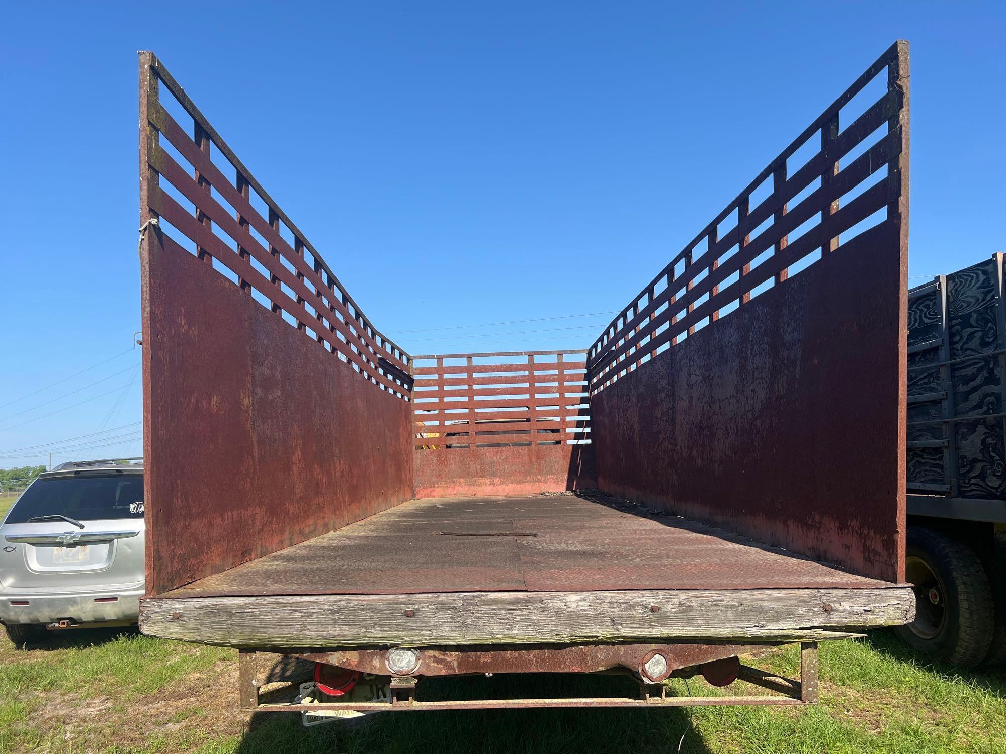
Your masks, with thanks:
[(148, 593), (409, 499), (407, 355), (149, 52), (140, 178)]

